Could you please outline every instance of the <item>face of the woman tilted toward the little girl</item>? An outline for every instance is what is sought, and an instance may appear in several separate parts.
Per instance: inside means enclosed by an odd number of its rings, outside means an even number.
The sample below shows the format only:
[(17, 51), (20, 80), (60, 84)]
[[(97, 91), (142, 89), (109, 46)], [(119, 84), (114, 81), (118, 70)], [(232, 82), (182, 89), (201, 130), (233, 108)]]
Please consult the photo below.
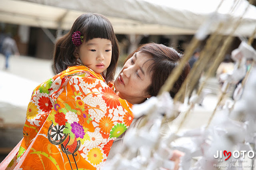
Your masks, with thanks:
[(151, 97), (146, 92), (151, 84), (147, 69), (152, 61), (146, 62), (150, 58), (150, 54), (139, 51), (126, 61), (114, 82), (119, 97), (132, 104), (142, 103), (146, 98)]

